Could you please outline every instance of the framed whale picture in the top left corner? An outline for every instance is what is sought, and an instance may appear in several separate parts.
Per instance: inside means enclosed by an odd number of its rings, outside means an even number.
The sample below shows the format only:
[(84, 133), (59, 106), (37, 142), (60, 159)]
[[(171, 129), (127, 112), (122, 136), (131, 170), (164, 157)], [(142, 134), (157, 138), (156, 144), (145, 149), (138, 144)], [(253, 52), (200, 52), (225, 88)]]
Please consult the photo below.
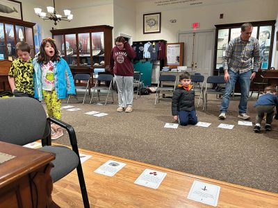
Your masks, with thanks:
[(23, 20), (22, 3), (15, 0), (0, 0), (0, 16)]

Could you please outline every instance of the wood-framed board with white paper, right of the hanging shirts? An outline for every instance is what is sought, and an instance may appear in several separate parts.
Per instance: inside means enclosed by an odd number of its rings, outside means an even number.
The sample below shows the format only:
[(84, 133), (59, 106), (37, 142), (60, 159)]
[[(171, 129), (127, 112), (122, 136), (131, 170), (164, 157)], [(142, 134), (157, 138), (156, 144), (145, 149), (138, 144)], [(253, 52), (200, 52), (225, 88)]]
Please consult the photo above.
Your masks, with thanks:
[(177, 68), (183, 66), (184, 42), (166, 44), (166, 62), (165, 66)]

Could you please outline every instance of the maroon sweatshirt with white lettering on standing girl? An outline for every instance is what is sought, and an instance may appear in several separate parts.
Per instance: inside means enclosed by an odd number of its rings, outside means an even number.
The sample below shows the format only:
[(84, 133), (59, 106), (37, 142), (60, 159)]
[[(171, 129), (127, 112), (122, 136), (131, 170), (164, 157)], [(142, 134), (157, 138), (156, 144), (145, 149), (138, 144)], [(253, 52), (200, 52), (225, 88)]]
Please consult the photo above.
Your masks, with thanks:
[(136, 58), (136, 52), (128, 42), (124, 43), (122, 50), (115, 46), (110, 55), (110, 69), (117, 76), (133, 76), (133, 58)]

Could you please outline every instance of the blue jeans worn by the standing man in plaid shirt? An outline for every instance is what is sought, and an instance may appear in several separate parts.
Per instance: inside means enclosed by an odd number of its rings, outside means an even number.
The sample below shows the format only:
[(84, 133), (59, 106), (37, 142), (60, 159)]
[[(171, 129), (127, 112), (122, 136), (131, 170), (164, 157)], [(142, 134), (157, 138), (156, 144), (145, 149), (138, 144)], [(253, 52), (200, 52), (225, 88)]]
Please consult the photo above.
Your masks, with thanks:
[(228, 70), (229, 73), (229, 81), (226, 83), (225, 93), (222, 98), (222, 104), (220, 107), (220, 112), (226, 113), (229, 107), (230, 97), (233, 93), (234, 86), (236, 84), (236, 81), (239, 80), (240, 84), (240, 102), (238, 105), (238, 112), (240, 114), (246, 113), (247, 110), (247, 102), (249, 97), (249, 89), (250, 89), (250, 77), (252, 74), (252, 71), (247, 71), (245, 73), (235, 73), (234, 71), (231, 71), (231, 69)]

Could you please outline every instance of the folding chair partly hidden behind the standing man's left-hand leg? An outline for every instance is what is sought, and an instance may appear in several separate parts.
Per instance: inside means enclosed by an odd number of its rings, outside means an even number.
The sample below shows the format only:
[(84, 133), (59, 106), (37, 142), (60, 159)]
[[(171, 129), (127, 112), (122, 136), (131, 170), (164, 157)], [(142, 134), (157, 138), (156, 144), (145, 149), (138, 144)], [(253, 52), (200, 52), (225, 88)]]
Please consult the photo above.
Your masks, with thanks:
[(220, 85), (220, 84), (224, 84), (224, 83), (226, 83), (224, 80), (224, 76), (208, 76), (208, 78), (206, 79), (206, 89), (204, 92), (203, 110), (204, 110), (204, 106), (206, 106), (206, 110), (208, 109), (208, 101), (218, 101), (218, 100), (208, 100), (208, 94), (215, 94), (215, 95), (223, 95), (224, 94), (223, 89), (221, 89), (221, 88), (219, 90), (215, 90), (213, 88), (208, 89), (208, 85), (210, 85), (210, 84)]

